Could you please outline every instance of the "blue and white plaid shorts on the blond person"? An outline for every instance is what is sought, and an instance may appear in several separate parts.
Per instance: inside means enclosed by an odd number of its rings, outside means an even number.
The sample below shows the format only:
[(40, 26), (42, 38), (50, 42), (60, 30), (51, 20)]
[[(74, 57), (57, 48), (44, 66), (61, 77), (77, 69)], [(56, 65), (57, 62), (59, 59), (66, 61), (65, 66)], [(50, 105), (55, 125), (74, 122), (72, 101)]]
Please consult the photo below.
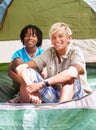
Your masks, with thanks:
[[(43, 80), (41, 75), (34, 69), (28, 69), (29, 83), (40, 82)], [(60, 88), (55, 89), (52, 86), (44, 87), (39, 90), (41, 94), (42, 101), (45, 103), (57, 103), (60, 99)], [(75, 79), (74, 82), (74, 95), (73, 100), (79, 99), (84, 96), (84, 91), (78, 79)]]

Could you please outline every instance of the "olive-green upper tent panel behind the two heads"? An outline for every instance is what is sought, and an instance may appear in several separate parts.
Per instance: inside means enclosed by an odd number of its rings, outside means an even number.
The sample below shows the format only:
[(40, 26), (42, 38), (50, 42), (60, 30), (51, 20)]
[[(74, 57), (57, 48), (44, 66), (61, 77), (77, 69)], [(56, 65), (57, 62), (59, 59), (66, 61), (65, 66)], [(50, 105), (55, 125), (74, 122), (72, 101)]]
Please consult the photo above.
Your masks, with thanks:
[(60, 21), (71, 27), (76, 39), (96, 38), (96, 13), (83, 0), (14, 0), (0, 31), (0, 40), (18, 40), (27, 24), (39, 26), (44, 39), (48, 39), (50, 26)]

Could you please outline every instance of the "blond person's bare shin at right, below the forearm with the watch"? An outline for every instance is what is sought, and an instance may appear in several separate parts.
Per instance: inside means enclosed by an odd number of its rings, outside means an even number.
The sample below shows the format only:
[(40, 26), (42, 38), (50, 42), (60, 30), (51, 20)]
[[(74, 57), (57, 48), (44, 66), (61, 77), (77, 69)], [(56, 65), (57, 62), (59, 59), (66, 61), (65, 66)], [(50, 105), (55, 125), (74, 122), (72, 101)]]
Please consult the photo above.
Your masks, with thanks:
[(64, 85), (61, 88), (61, 95), (60, 95), (60, 101), (59, 102), (65, 102), (72, 100), (74, 91), (73, 91), (73, 84)]

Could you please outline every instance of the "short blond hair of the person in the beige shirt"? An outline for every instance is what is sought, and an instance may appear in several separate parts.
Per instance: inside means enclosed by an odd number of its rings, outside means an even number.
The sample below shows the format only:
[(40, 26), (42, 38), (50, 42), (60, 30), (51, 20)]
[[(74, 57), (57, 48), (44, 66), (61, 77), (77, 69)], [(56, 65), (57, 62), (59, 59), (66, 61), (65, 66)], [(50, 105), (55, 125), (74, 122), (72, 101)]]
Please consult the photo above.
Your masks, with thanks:
[(51, 26), (49, 31), (49, 37), (51, 38), (57, 31), (63, 31), (66, 35), (72, 35), (72, 31), (66, 23), (58, 22)]

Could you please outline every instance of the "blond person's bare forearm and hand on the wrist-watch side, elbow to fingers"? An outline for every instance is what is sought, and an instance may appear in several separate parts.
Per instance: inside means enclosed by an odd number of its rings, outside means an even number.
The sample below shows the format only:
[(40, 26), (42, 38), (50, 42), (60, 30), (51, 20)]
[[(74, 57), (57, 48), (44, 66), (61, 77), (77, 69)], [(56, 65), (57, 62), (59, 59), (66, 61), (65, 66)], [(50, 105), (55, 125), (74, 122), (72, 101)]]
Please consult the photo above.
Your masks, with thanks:
[[(73, 82), (73, 80), (78, 77), (78, 74), (83, 72), (82, 68), (79, 70), (78, 70), (78, 68), (79, 68), (79, 65), (78, 65), (78, 67), (70, 66), (68, 69), (62, 71), (61, 73), (48, 78), (47, 81), (48, 81), (49, 85), (71, 84)], [(80, 71), (80, 70), (82, 70), (82, 71)], [(23, 79), (24, 79), (24, 77), (23, 77)], [(29, 93), (38, 91), (46, 86), (44, 81), (41, 81), (39, 83), (27, 84), (27, 85), (28, 85), (27, 91)]]

